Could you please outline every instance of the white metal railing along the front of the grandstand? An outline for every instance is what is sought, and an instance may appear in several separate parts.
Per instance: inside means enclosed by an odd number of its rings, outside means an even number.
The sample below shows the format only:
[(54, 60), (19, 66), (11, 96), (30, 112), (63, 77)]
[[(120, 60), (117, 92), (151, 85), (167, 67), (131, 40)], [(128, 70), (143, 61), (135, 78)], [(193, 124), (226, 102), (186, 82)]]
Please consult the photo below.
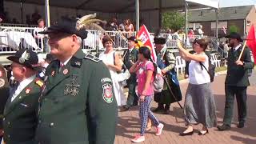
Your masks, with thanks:
[[(36, 52), (46, 51), (48, 48), (47, 38), (35, 37), (36, 27), (17, 27), (16, 26), (0, 26), (0, 54), (14, 53), (20, 48), (31, 48)], [(123, 50), (128, 48), (128, 40), (130, 36), (135, 36), (136, 33), (121, 32), (121, 31), (106, 31), (111, 37), (114, 38), (114, 50)], [(154, 33), (150, 33), (151, 38), (154, 38)], [(87, 38), (83, 40), (83, 50), (104, 50), (102, 44), (102, 38), (105, 34), (98, 30), (88, 30)], [(176, 48), (176, 38), (174, 34), (162, 34), (166, 38), (166, 47)], [(199, 36), (194, 35), (194, 38)], [(193, 38), (193, 39), (194, 39)], [(189, 39), (186, 42), (188, 47), (192, 46), (190, 42), (193, 39)], [(183, 40), (185, 42), (185, 40)]]

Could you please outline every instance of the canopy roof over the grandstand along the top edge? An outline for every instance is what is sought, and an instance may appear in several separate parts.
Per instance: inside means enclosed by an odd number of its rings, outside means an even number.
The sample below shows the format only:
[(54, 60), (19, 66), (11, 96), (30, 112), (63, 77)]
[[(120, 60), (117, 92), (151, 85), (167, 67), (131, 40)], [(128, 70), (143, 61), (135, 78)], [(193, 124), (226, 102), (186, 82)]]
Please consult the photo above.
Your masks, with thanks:
[[(8, 0), (12, 2), (21, 2), (21, 0)], [(33, 3), (38, 5), (44, 5), (45, 0), (22, 0), (25, 3)], [(189, 2), (190, 8), (202, 8), (213, 7), (218, 8), (218, 0), (186, 0)], [(185, 4), (183, 0), (162, 0), (162, 9), (183, 9)], [(141, 10), (145, 9), (158, 9), (159, 1), (155, 0), (140, 0)], [(156, 5), (148, 5), (148, 3), (154, 3)], [(50, 6), (68, 7), (78, 10), (91, 10), (101, 11), (106, 13), (118, 13), (135, 11), (135, 0), (50, 0)]]

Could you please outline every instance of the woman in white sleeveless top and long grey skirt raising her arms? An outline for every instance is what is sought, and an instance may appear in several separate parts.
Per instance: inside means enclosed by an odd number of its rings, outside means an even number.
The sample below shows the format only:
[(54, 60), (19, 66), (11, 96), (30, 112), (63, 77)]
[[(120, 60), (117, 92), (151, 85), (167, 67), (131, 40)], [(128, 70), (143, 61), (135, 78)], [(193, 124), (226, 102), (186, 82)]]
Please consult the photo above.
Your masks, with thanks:
[[(217, 126), (214, 96), (210, 90), (210, 75), (206, 70), (209, 67), (209, 58), (205, 54), (208, 42), (205, 39), (195, 39), (194, 54), (185, 50), (180, 41), (177, 41), (177, 46), (182, 58), (190, 61), (190, 81), (184, 103), (185, 122), (188, 127), (180, 135), (194, 134), (192, 125), (199, 123), (202, 124), (202, 130), (198, 134), (205, 135), (208, 133), (208, 128)], [(200, 65), (200, 62), (206, 69)]]

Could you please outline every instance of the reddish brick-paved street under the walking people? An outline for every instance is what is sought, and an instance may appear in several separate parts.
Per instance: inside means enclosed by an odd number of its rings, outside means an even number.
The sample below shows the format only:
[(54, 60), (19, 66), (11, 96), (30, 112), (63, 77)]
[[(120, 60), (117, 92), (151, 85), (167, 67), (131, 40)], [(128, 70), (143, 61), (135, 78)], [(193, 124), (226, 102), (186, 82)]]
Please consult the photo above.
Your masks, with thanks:
[[(215, 77), (212, 83), (212, 90), (214, 91), (214, 98), (217, 106), (218, 124), (222, 124), (222, 118), (224, 113), (225, 93), (224, 93), (224, 81), (226, 75), (218, 75)], [(251, 80), (256, 80), (256, 74), (254, 73)], [(251, 82), (255, 83), (255, 82)], [(182, 95), (186, 92), (187, 82), (181, 83)], [(195, 133), (192, 136), (181, 137), (178, 136), (182, 130), (186, 129), (184, 120), (182, 118), (182, 109), (178, 107), (177, 103), (174, 103), (174, 109), (169, 115), (155, 114), (156, 117), (162, 122), (165, 127), (161, 136), (155, 136), (155, 129), (146, 133), (146, 141), (142, 143), (146, 144), (166, 144), (166, 143), (256, 143), (256, 85), (249, 86), (247, 90), (247, 122), (246, 127), (238, 129), (236, 124), (238, 123), (237, 106), (234, 106), (234, 121), (230, 131), (220, 132), (217, 128), (210, 129), (210, 134), (205, 136), (198, 136), (198, 130), (202, 126), (194, 126)], [(183, 102), (182, 102), (183, 105)], [(156, 103), (152, 102), (151, 107), (156, 107)], [(116, 132), (115, 144), (127, 144), (131, 143), (130, 138), (133, 138), (134, 134), (139, 132), (139, 118), (138, 107), (134, 107), (126, 112), (119, 112), (118, 127)]]

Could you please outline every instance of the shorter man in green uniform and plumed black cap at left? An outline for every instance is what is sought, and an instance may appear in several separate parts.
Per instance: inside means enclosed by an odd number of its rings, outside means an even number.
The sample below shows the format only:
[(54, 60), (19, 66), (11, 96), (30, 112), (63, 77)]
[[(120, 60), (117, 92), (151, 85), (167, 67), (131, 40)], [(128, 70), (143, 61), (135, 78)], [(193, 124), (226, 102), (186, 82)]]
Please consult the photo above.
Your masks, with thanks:
[(34, 144), (38, 123), (38, 98), (43, 82), (36, 78), (38, 55), (32, 50), (18, 50), (7, 57), (17, 83), (10, 88), (10, 96), (3, 114), (3, 140), (6, 144)]

